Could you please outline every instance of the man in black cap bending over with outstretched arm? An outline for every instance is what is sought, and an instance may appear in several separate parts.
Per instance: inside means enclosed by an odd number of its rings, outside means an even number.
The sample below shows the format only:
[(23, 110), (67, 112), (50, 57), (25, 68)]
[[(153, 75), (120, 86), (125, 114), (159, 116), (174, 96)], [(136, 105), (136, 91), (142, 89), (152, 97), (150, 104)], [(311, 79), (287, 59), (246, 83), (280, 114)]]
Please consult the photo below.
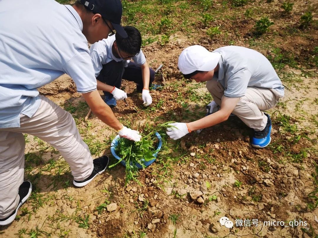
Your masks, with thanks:
[(121, 27), (120, 0), (0, 1), (0, 225), (10, 224), (30, 196), (24, 180), (24, 136), (37, 136), (59, 150), (73, 184), (83, 187), (105, 171), (108, 157), (93, 160), (72, 115), (37, 88), (70, 75), (93, 113), (117, 133), (139, 141), (138, 131), (123, 126), (101, 99), (87, 41), (95, 43)]

